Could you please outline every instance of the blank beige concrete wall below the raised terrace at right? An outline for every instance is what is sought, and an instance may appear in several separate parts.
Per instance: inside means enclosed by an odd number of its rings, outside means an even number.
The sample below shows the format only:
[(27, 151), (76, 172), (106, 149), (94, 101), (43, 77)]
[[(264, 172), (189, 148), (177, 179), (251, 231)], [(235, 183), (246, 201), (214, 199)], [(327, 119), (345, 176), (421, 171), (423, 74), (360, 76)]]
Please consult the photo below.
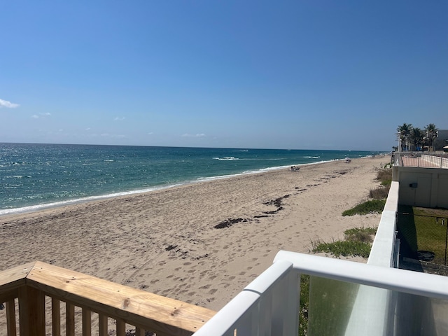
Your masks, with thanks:
[(448, 169), (395, 166), (392, 180), (400, 182), (400, 204), (448, 209)]

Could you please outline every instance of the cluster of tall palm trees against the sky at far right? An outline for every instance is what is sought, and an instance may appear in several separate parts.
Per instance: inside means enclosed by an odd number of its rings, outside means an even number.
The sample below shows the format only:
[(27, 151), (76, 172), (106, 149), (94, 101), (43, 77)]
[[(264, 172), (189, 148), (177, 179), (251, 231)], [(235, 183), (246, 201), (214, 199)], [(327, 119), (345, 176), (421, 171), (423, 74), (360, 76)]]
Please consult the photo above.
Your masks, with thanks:
[(438, 131), (434, 124), (428, 124), (421, 130), (412, 124), (404, 123), (397, 128), (399, 146), (402, 151), (439, 151), (445, 144), (442, 140), (437, 141)]

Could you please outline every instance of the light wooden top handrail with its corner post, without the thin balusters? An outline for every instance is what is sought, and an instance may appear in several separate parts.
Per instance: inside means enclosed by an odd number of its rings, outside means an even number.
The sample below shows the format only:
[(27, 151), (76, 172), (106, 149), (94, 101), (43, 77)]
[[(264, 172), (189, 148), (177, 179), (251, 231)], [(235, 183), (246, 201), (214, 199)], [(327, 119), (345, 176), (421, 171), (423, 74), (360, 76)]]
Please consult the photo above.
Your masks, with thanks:
[[(158, 335), (192, 335), (216, 314), (210, 309), (45, 262), (36, 261), (0, 272), (0, 301), (19, 299), (20, 336), (45, 335), (42, 322), (45, 295), (66, 302), (67, 309), (77, 306), (114, 318), (121, 329), (129, 323)], [(25, 321), (43, 325), (43, 333), (36, 333), (36, 328), (31, 333), (27, 326), (22, 326)]]

